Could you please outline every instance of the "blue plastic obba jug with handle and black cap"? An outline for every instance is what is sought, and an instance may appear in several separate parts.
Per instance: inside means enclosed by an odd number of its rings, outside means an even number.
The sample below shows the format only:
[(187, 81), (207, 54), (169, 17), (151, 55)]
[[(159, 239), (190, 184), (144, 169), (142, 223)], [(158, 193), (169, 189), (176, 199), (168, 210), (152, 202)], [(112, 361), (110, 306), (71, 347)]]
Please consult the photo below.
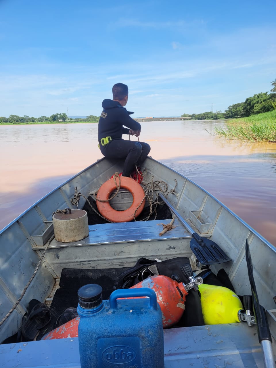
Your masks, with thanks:
[[(108, 301), (102, 287), (88, 284), (78, 296), (81, 368), (164, 368), (162, 312), (153, 290), (119, 289)], [(119, 299), (134, 297), (140, 298)]]

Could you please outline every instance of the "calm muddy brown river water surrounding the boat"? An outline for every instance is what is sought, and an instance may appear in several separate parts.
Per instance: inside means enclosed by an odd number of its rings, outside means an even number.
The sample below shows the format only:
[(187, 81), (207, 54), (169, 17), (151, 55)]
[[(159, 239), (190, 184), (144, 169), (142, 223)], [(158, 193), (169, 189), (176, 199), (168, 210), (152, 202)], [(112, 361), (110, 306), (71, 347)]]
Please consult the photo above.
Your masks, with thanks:
[[(152, 158), (199, 184), (276, 245), (276, 144), (214, 135), (223, 123), (146, 122), (139, 138), (151, 145)], [(102, 158), (97, 131), (98, 124), (0, 125), (0, 229)]]

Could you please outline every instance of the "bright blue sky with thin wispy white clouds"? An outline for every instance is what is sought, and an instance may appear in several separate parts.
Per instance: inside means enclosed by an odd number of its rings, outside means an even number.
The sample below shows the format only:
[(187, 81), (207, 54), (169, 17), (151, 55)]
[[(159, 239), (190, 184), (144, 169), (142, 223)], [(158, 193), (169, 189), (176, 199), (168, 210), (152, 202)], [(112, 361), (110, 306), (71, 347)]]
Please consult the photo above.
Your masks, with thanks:
[(224, 111), (270, 91), (276, 1), (0, 0), (0, 116)]

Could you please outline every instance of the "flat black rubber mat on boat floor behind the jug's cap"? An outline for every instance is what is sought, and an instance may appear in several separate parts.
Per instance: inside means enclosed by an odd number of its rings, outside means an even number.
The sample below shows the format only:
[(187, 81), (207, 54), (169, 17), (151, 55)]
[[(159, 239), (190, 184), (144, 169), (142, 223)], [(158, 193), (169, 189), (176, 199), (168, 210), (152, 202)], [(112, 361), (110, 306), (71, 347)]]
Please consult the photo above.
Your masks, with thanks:
[(50, 306), (51, 320), (36, 340), (56, 328), (57, 318), (65, 309), (78, 306), (78, 289), (86, 284), (99, 284), (103, 288), (103, 299), (109, 299), (118, 276), (128, 268), (74, 269), (64, 268), (60, 276), (60, 289), (54, 294)]

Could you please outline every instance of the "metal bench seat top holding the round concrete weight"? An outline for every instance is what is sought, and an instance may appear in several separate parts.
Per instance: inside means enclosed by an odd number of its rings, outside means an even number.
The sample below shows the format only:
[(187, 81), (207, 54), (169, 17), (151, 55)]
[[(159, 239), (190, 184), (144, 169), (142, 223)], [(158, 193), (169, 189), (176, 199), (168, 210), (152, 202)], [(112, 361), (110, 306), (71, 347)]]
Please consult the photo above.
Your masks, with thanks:
[(162, 224), (169, 224), (170, 219), (167, 220), (151, 220), (151, 221), (137, 221), (137, 222), (122, 222), (122, 223), (108, 223), (89, 225), (89, 236), (83, 240), (73, 243), (60, 243), (53, 239), (50, 248), (65, 247), (72, 245), (96, 245), (96, 244), (110, 244), (110, 243), (126, 243), (135, 241), (160, 241), (160, 240), (178, 240), (183, 238), (191, 238), (191, 234), (176, 218), (170, 231), (167, 231), (159, 236), (163, 230)]

